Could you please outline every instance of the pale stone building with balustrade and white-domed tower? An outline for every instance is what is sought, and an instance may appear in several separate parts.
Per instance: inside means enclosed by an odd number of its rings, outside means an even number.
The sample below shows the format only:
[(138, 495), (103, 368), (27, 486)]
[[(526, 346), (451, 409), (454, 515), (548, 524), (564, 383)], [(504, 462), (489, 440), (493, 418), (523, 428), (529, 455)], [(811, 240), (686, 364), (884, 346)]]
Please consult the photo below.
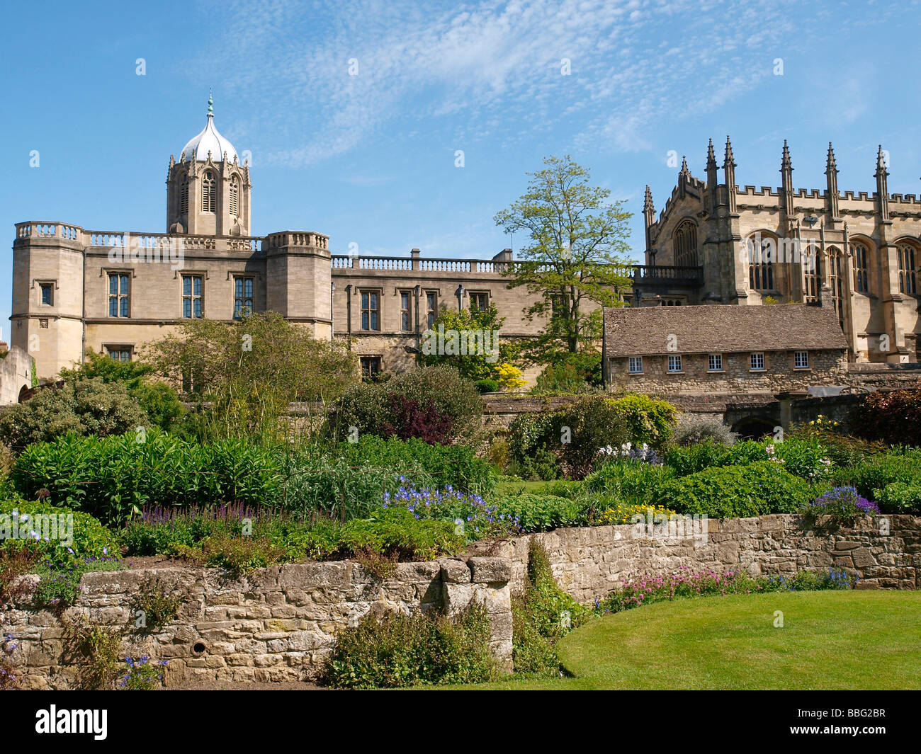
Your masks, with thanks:
[(412, 365), (444, 307), (495, 304), (503, 338), (539, 331), (523, 316), (533, 297), (507, 289), (504, 249), (484, 260), (331, 253), (308, 230), (251, 236), (251, 174), (216, 129), (169, 157), (167, 232), (98, 231), (56, 221), (16, 226), (12, 342), (38, 377), (87, 351), (132, 359), (183, 319), (231, 321), (273, 310), (317, 338), (348, 338), (366, 373)]

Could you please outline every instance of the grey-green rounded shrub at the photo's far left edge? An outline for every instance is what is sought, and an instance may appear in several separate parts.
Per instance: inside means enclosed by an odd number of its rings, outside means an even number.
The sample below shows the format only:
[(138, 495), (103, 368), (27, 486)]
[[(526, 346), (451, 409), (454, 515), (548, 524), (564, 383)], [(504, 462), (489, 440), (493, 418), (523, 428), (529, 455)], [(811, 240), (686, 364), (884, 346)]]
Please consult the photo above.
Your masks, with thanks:
[(124, 385), (100, 377), (39, 390), (0, 412), (0, 437), (12, 447), (50, 442), (63, 435), (122, 435), (149, 423)]

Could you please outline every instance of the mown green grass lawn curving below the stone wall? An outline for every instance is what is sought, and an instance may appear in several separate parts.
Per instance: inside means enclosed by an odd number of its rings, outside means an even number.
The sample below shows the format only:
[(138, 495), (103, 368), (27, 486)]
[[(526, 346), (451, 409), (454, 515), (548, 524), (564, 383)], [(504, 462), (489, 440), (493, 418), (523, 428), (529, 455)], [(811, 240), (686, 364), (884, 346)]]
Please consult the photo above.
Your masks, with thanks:
[(921, 689), (921, 592), (660, 602), (590, 621), (559, 655), (573, 678), (463, 688)]

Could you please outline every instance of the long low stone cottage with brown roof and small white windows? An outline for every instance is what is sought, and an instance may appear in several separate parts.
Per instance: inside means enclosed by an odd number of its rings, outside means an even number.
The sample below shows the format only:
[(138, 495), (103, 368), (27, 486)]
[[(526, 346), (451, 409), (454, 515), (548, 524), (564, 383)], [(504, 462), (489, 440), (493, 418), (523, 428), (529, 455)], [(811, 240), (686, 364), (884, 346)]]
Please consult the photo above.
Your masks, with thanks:
[(847, 342), (823, 305), (606, 308), (602, 364), (611, 390), (764, 393), (847, 381)]

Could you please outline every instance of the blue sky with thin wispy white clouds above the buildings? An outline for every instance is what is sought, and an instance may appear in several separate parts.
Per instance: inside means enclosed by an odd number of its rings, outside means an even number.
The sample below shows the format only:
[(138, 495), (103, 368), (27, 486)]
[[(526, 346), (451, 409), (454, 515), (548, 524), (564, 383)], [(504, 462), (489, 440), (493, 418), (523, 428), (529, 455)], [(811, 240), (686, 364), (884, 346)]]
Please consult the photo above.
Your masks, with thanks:
[(799, 188), (824, 186), (833, 141), (843, 191), (873, 190), (881, 143), (890, 191), (921, 193), (919, 21), (918, 0), (7, 5), (0, 326), (14, 223), (166, 230), (208, 87), (251, 152), (253, 234), (316, 230), (333, 253), (491, 257), (525, 172), (570, 154), (635, 213), (638, 260), (644, 186), (659, 211), (670, 151), (703, 178), (728, 133), (740, 184), (776, 186), (786, 138)]

